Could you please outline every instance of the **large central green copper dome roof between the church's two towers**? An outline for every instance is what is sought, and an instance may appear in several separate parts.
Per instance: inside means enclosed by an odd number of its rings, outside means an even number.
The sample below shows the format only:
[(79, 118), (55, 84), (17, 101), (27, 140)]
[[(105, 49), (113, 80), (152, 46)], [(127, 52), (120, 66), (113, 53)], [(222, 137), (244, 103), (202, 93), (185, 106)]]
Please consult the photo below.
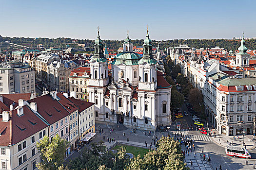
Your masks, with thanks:
[(121, 52), (114, 58), (111, 64), (119, 65), (123, 63), (127, 66), (138, 65), (139, 59), (140, 56), (136, 52)]

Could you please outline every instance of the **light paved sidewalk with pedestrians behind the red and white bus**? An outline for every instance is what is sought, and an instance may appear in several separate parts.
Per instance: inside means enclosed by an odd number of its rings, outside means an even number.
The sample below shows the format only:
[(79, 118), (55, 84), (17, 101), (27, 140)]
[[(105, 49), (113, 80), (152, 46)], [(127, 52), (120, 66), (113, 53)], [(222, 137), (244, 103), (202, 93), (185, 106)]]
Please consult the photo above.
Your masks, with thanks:
[[(214, 132), (214, 131), (213, 131)], [(216, 132), (216, 137), (212, 136), (212, 141), (214, 141), (215, 143), (217, 143), (218, 145), (222, 146), (222, 147), (226, 147), (227, 145), (229, 145), (228, 142), (231, 142), (231, 146), (236, 146), (236, 147), (244, 147), (243, 146), (243, 141), (245, 142), (246, 145), (246, 149), (247, 150), (252, 150), (256, 148), (256, 143), (255, 141), (252, 141), (252, 139), (250, 139), (247, 136), (239, 136), (239, 139), (236, 137), (236, 140), (234, 140), (234, 136), (226, 136), (226, 135), (222, 135), (222, 134), (217, 134)]]

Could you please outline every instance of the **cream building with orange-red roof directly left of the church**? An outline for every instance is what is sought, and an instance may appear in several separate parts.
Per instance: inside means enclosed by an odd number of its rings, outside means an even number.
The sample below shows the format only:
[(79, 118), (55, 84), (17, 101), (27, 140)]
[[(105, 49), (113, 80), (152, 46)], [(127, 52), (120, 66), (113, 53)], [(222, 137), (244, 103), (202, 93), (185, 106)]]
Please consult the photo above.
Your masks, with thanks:
[(90, 68), (79, 67), (71, 71), (69, 75), (69, 90), (76, 92), (77, 99), (89, 100)]

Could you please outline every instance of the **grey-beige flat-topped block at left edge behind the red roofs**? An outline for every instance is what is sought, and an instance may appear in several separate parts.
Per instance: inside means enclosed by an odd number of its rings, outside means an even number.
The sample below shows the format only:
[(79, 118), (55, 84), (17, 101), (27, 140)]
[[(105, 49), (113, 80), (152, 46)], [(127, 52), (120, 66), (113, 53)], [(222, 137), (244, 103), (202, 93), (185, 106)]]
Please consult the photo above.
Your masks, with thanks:
[(18, 61), (0, 63), (0, 94), (34, 93), (35, 71)]

